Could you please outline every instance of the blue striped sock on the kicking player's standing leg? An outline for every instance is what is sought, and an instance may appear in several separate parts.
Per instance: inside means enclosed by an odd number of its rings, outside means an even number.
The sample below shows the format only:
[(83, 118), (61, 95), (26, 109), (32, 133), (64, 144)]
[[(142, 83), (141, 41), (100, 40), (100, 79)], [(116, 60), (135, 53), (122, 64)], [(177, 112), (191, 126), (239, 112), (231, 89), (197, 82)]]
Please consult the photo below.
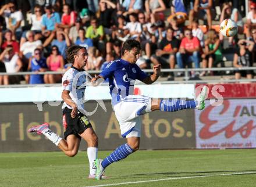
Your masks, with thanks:
[(131, 149), (131, 147), (126, 143), (114, 150), (108, 157), (106, 157), (101, 165), (102, 167), (106, 168), (109, 164), (119, 161), (122, 159), (125, 159), (129, 154), (133, 153), (134, 149)]

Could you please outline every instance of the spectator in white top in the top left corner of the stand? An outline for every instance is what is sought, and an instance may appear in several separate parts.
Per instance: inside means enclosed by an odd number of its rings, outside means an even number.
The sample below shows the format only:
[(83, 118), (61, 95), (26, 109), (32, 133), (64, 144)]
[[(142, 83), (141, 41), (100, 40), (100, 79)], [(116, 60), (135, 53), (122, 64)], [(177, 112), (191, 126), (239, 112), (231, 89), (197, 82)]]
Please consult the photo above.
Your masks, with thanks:
[(22, 37), (21, 23), (23, 15), (20, 10), (16, 10), (15, 3), (9, 2), (0, 9), (0, 16), (5, 17), (6, 28), (12, 31), (15, 37), (20, 40)]

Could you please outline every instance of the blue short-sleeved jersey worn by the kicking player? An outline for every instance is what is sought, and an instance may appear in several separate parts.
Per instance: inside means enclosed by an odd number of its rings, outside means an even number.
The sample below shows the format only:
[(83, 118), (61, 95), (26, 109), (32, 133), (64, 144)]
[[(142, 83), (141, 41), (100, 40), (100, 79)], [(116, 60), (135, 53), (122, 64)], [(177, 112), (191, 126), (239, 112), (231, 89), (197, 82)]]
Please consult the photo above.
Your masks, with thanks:
[(133, 95), (135, 80), (143, 81), (148, 77), (136, 64), (119, 59), (109, 63), (101, 72), (104, 80), (109, 78), (112, 105), (115, 106), (128, 95)]

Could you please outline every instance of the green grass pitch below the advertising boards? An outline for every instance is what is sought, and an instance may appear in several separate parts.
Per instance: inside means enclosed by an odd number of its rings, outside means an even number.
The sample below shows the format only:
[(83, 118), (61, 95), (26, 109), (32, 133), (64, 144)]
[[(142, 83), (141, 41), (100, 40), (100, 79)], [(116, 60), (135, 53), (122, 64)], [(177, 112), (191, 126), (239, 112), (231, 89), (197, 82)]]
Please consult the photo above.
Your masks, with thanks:
[[(109, 153), (100, 151), (99, 157)], [(72, 158), (62, 152), (0, 154), (0, 186), (234, 187), (256, 186), (256, 149), (140, 150), (113, 163), (106, 175), (87, 179), (86, 152)]]

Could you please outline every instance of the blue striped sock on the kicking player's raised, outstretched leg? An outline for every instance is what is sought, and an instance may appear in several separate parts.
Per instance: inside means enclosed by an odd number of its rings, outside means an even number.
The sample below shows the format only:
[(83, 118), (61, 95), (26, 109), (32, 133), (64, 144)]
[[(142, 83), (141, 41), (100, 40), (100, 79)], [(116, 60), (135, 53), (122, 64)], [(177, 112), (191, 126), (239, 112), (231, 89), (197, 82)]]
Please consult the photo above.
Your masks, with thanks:
[(182, 109), (194, 109), (197, 106), (195, 100), (161, 99), (160, 110), (164, 112), (175, 112)]

